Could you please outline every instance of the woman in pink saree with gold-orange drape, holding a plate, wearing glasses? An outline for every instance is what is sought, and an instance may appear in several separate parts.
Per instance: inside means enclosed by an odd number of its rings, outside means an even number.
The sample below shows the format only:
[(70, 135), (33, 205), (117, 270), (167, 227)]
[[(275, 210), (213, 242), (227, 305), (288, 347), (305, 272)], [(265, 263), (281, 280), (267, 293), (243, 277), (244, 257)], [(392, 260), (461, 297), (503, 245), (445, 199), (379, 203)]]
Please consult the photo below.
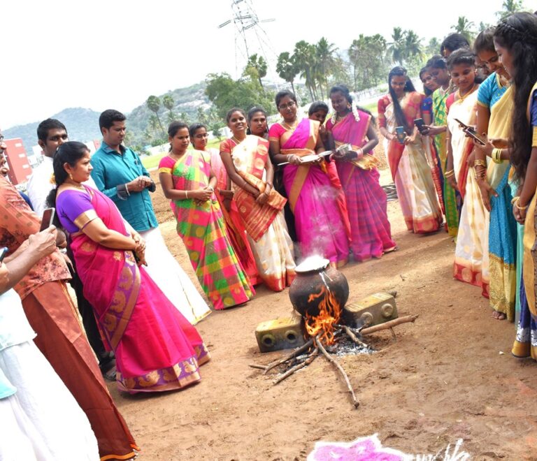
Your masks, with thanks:
[(324, 152), (319, 122), (299, 120), (296, 96), (287, 90), (276, 94), (276, 106), (283, 121), (271, 126), (268, 140), (273, 161), (289, 162), (283, 170), (283, 183), (301, 254), (323, 256), (341, 267), (349, 257), (347, 204), (336, 165), (317, 155)]

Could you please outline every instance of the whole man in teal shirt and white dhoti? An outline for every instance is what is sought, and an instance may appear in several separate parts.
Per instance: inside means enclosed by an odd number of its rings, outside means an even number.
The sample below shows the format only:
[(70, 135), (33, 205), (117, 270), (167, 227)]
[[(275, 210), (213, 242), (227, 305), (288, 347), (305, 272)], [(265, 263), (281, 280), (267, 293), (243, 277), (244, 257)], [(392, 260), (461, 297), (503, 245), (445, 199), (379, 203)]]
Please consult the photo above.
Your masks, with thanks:
[(99, 117), (103, 144), (92, 156), (92, 178), (145, 240), (145, 270), (150, 277), (187, 320), (196, 323), (210, 309), (164, 243), (149, 196), (155, 183), (138, 155), (122, 145), (125, 119), (117, 110), (105, 110)]

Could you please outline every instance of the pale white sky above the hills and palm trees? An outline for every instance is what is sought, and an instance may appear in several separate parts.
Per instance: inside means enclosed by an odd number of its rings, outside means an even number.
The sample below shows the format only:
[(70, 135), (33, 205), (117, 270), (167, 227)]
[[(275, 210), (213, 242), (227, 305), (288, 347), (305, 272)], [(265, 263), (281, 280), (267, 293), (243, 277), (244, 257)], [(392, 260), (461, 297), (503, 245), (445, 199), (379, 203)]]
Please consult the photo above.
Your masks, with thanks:
[[(322, 36), (342, 50), (359, 34), (388, 39), (395, 26), (413, 29), (426, 43), (449, 34), (460, 15), (495, 23), (502, 3), (249, 1), (260, 20), (275, 20), (262, 24), (266, 36), (260, 34), (269, 58)], [(234, 25), (218, 29), (231, 17), (231, 0), (6, 0), (0, 14), (2, 129), (69, 107), (129, 112), (150, 94), (187, 87), (208, 73), (236, 76), (236, 54), (241, 58)]]

